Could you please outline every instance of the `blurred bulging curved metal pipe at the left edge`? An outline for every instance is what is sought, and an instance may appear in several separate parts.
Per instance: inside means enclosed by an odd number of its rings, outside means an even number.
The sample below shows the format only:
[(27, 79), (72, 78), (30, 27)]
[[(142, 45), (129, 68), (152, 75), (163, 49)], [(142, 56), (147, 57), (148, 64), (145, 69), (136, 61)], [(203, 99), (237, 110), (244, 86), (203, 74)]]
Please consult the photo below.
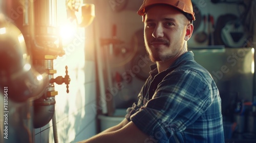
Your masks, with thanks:
[(49, 84), (45, 69), (31, 65), (22, 32), (0, 16), (0, 86), (14, 102), (38, 99)]

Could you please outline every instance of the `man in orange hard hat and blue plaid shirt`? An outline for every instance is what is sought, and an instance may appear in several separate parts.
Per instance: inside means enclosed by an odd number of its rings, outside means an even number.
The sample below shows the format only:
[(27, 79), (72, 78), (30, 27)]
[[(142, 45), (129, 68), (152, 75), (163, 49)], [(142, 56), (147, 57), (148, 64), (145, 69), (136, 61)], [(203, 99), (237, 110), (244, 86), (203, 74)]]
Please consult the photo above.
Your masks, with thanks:
[(84, 142), (224, 142), (218, 88), (187, 51), (191, 1), (144, 0), (138, 14), (156, 66), (124, 120)]

